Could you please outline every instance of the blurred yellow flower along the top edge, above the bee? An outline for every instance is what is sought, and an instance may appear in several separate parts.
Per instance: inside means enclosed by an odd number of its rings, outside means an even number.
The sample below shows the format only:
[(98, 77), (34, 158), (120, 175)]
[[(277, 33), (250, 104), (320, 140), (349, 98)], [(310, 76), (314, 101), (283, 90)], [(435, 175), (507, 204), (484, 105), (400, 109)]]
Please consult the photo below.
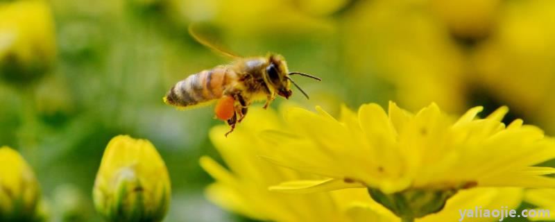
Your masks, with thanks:
[[(317, 14), (325, 14), (338, 10), (347, 1), (327, 0), (328, 4), (323, 4), (321, 1), (295, 3), (285, 0), (165, 0), (161, 3), (168, 10), (169, 17), (182, 24), (210, 22), (223, 28), (227, 37), (234, 39), (275, 33), (329, 33), (334, 29), (332, 22), (300, 13), (299, 7)], [(312, 7), (309, 8), (310, 6)]]

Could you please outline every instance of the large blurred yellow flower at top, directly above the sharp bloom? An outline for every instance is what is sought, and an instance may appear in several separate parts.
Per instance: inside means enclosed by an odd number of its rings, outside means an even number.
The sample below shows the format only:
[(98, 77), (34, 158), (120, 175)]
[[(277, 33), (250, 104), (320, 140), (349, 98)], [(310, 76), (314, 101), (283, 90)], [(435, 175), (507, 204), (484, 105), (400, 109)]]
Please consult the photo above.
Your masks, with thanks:
[(409, 108), (431, 101), (445, 110), (466, 108), (464, 54), (431, 13), (430, 1), (360, 1), (357, 6), (345, 17), (347, 73), (363, 85), (368, 76), (383, 78)]

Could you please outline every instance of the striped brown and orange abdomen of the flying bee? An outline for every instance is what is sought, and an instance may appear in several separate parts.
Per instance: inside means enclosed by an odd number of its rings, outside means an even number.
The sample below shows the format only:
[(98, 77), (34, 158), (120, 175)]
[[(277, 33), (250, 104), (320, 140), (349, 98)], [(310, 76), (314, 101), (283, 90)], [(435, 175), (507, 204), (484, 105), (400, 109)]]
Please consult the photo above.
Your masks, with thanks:
[(169, 105), (186, 107), (221, 98), (225, 84), (235, 75), (225, 67), (201, 71), (171, 87), (164, 97)]

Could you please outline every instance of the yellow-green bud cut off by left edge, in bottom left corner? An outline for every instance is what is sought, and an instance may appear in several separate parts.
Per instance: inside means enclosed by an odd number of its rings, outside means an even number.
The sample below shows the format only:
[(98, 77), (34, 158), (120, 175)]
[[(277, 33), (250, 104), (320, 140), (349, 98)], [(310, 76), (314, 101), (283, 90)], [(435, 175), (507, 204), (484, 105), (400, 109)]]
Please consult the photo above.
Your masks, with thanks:
[(0, 148), (0, 221), (33, 221), (40, 187), (31, 167), (17, 151)]

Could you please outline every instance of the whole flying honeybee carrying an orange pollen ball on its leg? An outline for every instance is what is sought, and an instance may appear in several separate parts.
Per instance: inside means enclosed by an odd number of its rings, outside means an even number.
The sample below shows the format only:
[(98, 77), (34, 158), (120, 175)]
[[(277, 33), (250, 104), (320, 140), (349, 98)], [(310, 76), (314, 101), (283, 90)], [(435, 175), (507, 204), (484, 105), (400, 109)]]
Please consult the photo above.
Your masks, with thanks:
[(267, 56), (251, 58), (236, 56), (203, 40), (196, 35), (192, 27), (189, 26), (189, 33), (197, 42), (233, 58), (234, 61), (180, 80), (164, 96), (164, 103), (178, 108), (195, 108), (218, 101), (215, 108), (216, 118), (227, 121), (231, 126), (225, 136), (245, 118), (248, 106), (253, 101), (266, 100), (264, 103), (264, 109), (266, 109), (275, 99), (276, 94), (289, 99), (293, 94), (291, 83), (309, 99), (309, 96), (293, 82), (290, 76), (300, 75), (321, 80), (309, 74), (289, 72), (287, 62), (278, 54), (268, 53)]

